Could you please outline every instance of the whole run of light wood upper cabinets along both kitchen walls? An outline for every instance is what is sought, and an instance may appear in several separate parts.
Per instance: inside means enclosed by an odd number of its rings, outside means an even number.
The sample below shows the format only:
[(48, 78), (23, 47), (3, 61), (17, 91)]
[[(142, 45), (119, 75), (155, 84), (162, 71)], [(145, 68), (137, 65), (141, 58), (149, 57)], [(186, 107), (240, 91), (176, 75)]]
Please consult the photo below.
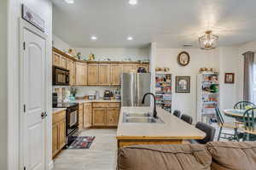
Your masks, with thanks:
[(148, 63), (122, 61), (82, 61), (53, 48), (52, 63), (65, 68), (70, 74), (70, 86), (119, 86), (123, 72), (137, 71)]

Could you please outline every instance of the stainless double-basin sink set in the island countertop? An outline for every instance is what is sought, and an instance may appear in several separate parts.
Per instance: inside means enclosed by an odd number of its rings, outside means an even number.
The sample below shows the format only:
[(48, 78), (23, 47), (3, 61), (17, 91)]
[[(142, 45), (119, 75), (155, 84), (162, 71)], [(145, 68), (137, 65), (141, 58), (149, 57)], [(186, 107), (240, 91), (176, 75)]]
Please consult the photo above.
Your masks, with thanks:
[(123, 122), (127, 123), (164, 123), (160, 117), (154, 118), (149, 113), (124, 113)]

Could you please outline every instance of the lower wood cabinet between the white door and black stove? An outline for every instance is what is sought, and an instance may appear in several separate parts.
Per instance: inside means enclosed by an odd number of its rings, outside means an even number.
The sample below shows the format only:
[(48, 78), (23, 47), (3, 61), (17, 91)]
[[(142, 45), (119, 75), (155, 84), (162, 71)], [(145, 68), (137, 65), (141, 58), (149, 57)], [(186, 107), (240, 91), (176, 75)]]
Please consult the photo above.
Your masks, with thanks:
[(66, 111), (54, 113), (52, 120), (52, 157), (54, 157), (66, 145)]

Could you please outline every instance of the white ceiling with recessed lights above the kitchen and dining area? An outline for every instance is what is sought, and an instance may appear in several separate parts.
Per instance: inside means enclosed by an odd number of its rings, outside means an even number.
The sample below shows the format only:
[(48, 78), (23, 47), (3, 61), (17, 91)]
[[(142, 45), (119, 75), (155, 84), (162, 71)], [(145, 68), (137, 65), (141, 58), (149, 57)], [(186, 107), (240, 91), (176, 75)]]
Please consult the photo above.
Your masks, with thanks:
[[(78, 48), (164, 48), (193, 44), (208, 29), (218, 46), (256, 40), (255, 0), (52, 0), (53, 32)], [(98, 37), (91, 41), (90, 36)], [(134, 40), (127, 41), (128, 36)]]

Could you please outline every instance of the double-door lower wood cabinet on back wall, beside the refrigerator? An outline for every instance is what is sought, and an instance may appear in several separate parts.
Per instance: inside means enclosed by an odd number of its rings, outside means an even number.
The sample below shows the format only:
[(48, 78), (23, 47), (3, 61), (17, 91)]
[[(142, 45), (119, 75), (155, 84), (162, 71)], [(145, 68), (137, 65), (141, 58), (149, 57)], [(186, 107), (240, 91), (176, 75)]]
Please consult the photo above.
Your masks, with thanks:
[(119, 107), (92, 109), (92, 126), (117, 127), (118, 122), (119, 122)]

